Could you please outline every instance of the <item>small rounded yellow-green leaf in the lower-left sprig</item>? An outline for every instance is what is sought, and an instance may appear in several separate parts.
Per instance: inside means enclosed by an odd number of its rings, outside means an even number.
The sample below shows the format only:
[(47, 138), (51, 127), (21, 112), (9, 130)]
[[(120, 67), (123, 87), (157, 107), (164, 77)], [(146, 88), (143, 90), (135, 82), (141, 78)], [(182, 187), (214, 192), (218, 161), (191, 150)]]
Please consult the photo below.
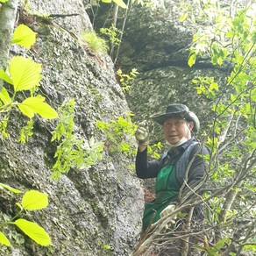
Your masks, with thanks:
[(48, 196), (37, 190), (29, 190), (25, 192), (21, 204), (25, 210), (41, 210), (48, 205)]

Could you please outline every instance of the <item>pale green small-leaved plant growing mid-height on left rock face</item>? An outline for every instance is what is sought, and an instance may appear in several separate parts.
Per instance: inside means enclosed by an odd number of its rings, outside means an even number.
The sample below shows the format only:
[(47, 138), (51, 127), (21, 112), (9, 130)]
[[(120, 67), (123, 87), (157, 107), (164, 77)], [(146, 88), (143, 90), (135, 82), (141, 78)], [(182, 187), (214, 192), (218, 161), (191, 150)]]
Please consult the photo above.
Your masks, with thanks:
[(60, 174), (68, 174), (70, 168), (89, 168), (102, 158), (102, 142), (96, 142), (93, 137), (88, 142), (75, 138), (74, 104), (74, 100), (70, 100), (60, 106), (60, 122), (51, 139), (59, 143), (51, 175), (55, 180), (60, 178)]

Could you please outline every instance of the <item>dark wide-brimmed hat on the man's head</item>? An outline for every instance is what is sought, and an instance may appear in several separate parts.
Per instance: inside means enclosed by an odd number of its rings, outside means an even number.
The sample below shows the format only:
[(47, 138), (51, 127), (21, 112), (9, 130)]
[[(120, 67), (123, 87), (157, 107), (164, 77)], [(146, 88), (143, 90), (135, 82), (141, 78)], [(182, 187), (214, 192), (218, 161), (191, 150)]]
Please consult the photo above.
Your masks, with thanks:
[(155, 114), (151, 116), (153, 120), (158, 123), (163, 125), (164, 122), (167, 120), (169, 117), (181, 117), (187, 120), (188, 122), (193, 122), (194, 127), (193, 127), (193, 132), (198, 132), (200, 128), (200, 122), (198, 117), (196, 117), (196, 114), (188, 110), (188, 107), (184, 104), (181, 103), (176, 103), (176, 104), (171, 104), (167, 106), (167, 110), (165, 113), (162, 114)]

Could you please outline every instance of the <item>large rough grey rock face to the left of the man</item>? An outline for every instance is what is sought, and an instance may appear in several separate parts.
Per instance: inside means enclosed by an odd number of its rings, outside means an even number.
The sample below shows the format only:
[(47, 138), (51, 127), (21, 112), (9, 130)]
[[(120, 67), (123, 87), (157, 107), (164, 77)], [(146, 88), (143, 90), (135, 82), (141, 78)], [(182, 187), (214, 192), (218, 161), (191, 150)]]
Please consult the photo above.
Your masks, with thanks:
[[(75, 99), (75, 137), (88, 141), (92, 136), (105, 139), (96, 131), (96, 120), (110, 121), (129, 110), (116, 82), (108, 56), (89, 53), (74, 36), (91, 28), (82, 1), (32, 1), (31, 11), (77, 13), (58, 19), (53, 25), (28, 24), (38, 33), (31, 52), (15, 46), (13, 55), (25, 54), (42, 63), (43, 79), (39, 93), (55, 109), (64, 99)], [(28, 20), (27, 18), (25, 20)], [(67, 22), (68, 20), (68, 22)], [(58, 25), (57, 25), (58, 24)], [(61, 27), (60, 27), (61, 26)], [(62, 28), (65, 28), (62, 29)], [(134, 162), (125, 154), (110, 154), (89, 169), (71, 169), (59, 181), (49, 179), (56, 144), (50, 142), (56, 122), (35, 120), (34, 135), (25, 145), (17, 142), (18, 129), (25, 117), (11, 115), (10, 139), (1, 139), (1, 182), (22, 190), (38, 189), (48, 194), (46, 210), (28, 213), (26, 218), (43, 226), (52, 238), (52, 246), (35, 245), (17, 232), (6, 230), (11, 248), (1, 246), (1, 255), (128, 255), (140, 231), (143, 191), (134, 170)], [(132, 140), (133, 141), (133, 140)], [(133, 141), (135, 143), (135, 141)], [(14, 201), (1, 191), (4, 214), (18, 211)]]

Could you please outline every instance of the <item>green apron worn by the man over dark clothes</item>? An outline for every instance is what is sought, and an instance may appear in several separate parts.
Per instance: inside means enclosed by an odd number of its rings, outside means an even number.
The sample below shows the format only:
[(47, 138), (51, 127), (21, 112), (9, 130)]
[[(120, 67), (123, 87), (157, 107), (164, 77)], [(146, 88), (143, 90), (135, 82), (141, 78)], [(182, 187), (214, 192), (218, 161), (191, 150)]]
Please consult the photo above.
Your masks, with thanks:
[(180, 186), (177, 184), (173, 166), (160, 169), (156, 178), (155, 193), (153, 202), (145, 203), (145, 210), (142, 219), (142, 232), (146, 231), (149, 224), (160, 219), (160, 212), (177, 198)]

